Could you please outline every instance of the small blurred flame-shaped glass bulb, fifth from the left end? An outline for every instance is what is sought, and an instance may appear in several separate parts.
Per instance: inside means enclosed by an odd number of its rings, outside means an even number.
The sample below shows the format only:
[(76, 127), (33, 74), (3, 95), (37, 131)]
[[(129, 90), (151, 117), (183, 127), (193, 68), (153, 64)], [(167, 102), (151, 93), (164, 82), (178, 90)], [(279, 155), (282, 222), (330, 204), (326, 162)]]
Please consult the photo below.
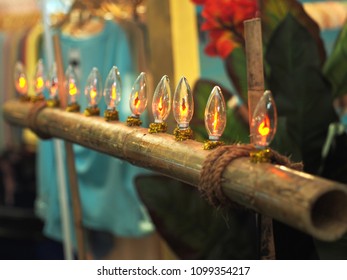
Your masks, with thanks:
[(90, 107), (96, 107), (102, 96), (102, 79), (99, 70), (94, 67), (87, 78), (84, 94)]

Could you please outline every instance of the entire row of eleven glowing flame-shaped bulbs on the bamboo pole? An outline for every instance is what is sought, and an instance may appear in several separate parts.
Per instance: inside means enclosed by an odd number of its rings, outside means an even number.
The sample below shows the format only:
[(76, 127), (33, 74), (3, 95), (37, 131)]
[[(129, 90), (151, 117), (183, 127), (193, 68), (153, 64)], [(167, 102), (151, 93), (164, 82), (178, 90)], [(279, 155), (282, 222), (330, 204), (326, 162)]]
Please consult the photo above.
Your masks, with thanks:
[[(22, 98), (28, 95), (28, 80), (22, 63), (17, 62), (15, 67), (15, 87)], [(49, 77), (45, 80), (44, 66), (40, 59), (36, 66), (34, 76), (34, 97), (43, 98), (45, 87), (49, 91), (50, 101), (58, 101), (58, 76), (56, 66), (53, 65)], [(79, 111), (80, 90), (78, 79), (72, 66), (68, 66), (65, 72), (65, 92), (67, 94), (67, 105), (70, 111)], [(117, 106), (121, 101), (121, 77), (116, 66), (113, 66), (106, 78), (104, 89), (102, 90), (102, 78), (97, 68), (93, 68), (87, 78), (84, 94), (88, 100), (86, 111), (89, 115), (98, 115), (98, 104), (104, 96), (107, 105), (106, 116), (115, 116), (118, 119)], [(54, 103), (54, 102), (53, 102)], [(152, 113), (154, 117), (154, 126), (159, 128), (165, 124), (167, 117), (173, 109), (173, 116), (177, 122), (178, 134), (184, 135), (190, 131), (189, 123), (194, 113), (194, 99), (189, 83), (185, 77), (182, 77), (175, 89), (173, 99), (168, 76), (164, 75), (158, 83), (152, 100)], [(146, 73), (142, 72), (135, 80), (130, 96), (129, 106), (132, 112), (131, 118), (135, 124), (140, 124), (140, 115), (147, 107), (147, 78)], [(128, 118), (128, 119), (129, 119)], [(106, 118), (112, 120), (112, 118)], [(210, 142), (219, 143), (226, 126), (226, 104), (218, 86), (215, 86), (208, 98), (205, 107), (205, 127), (209, 135)], [(137, 120), (137, 121), (136, 121)], [(134, 124), (134, 122), (132, 122)], [(152, 125), (152, 124), (151, 124)], [(165, 132), (164, 129), (158, 129), (155, 132)], [(150, 126), (151, 129), (151, 126)], [(256, 146), (267, 147), (272, 140), (276, 130), (276, 108), (271, 96), (271, 92), (266, 91), (259, 101), (255, 114), (252, 118), (251, 134)], [(151, 130), (150, 130), (151, 132)], [(183, 133), (183, 134), (182, 134)], [(176, 135), (176, 134), (175, 134)], [(179, 137), (178, 140), (185, 140), (191, 137)], [(213, 146), (213, 145), (212, 145)]]

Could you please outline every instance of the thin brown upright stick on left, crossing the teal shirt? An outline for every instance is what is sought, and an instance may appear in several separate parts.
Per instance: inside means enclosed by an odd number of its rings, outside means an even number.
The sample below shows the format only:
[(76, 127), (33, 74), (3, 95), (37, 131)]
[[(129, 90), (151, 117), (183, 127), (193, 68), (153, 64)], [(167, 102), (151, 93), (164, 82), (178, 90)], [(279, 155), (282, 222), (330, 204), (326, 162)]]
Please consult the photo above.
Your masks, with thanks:
[[(58, 91), (59, 91), (59, 99), (61, 103), (61, 107), (64, 109), (67, 106), (67, 97), (64, 94), (64, 70), (63, 70), (63, 60), (61, 56), (61, 48), (60, 48), (60, 39), (59, 35), (55, 34), (53, 36), (54, 43), (54, 53), (55, 60), (57, 64), (57, 72), (58, 72)], [(66, 151), (66, 161), (68, 167), (69, 174), (69, 185), (70, 192), (72, 197), (72, 209), (74, 216), (74, 225), (75, 225), (75, 234), (77, 240), (77, 255), (78, 259), (85, 260), (86, 257), (86, 246), (85, 246), (85, 238), (84, 238), (84, 230), (83, 230), (83, 221), (82, 221), (82, 207), (80, 201), (80, 194), (78, 189), (78, 178), (76, 174), (76, 166), (75, 166), (75, 155), (73, 152), (72, 143), (69, 141), (64, 141), (65, 143), (65, 151)]]

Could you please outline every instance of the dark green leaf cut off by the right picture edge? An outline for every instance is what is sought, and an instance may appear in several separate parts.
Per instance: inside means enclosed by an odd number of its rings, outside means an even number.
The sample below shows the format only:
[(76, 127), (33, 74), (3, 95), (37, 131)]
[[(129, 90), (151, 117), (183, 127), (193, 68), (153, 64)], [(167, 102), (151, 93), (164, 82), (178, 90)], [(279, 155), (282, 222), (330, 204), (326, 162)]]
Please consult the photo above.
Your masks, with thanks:
[(334, 97), (347, 94), (347, 23), (341, 30), (323, 71), (332, 83)]

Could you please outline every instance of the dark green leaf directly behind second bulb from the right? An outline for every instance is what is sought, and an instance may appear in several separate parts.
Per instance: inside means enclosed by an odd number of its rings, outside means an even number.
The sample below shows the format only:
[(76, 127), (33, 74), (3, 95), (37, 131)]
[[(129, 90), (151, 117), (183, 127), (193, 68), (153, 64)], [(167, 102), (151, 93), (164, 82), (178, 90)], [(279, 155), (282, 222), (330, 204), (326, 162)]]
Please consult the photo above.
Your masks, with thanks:
[[(208, 134), (205, 129), (204, 113), (205, 107), (214, 86), (217, 84), (210, 80), (198, 80), (193, 88), (194, 95), (194, 116), (190, 123), (194, 130), (194, 136), (198, 141), (208, 139)], [(220, 86), (220, 85), (219, 85)], [(226, 88), (220, 86), (224, 95), (225, 102), (233, 96), (233, 94)], [(228, 108), (227, 110), (227, 124), (223, 133), (222, 139), (226, 143), (249, 141), (248, 124), (241, 120), (237, 111)]]

